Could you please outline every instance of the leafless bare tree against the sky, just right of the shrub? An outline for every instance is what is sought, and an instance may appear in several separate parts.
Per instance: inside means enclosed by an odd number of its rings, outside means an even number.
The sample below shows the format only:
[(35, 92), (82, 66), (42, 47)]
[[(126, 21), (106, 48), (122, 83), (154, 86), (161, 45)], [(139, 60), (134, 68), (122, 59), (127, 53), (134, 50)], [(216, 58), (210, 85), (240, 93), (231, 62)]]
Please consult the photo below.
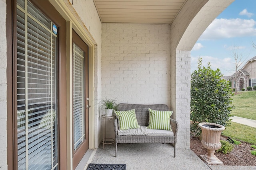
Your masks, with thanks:
[[(244, 59), (244, 55), (242, 54), (242, 52), (240, 51), (240, 47), (239, 46), (234, 46), (232, 47), (232, 57), (235, 60), (235, 73), (232, 75), (232, 80), (235, 81), (235, 85), (237, 86), (237, 82), (239, 81), (239, 77), (240, 74), (238, 73), (238, 70), (240, 68), (240, 66), (244, 63), (244, 61), (246, 61), (246, 59)], [(237, 88), (235, 86), (235, 92), (237, 92)]]

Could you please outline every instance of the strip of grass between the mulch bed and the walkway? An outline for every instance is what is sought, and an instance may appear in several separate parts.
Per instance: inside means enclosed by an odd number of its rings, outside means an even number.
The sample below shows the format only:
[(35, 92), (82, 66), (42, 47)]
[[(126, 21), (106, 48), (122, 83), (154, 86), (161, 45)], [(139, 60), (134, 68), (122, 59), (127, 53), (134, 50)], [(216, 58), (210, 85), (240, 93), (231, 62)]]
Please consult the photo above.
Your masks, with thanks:
[(239, 123), (231, 122), (231, 125), (226, 127), (222, 135), (236, 139), (238, 141), (244, 141), (256, 145), (256, 128), (242, 125)]

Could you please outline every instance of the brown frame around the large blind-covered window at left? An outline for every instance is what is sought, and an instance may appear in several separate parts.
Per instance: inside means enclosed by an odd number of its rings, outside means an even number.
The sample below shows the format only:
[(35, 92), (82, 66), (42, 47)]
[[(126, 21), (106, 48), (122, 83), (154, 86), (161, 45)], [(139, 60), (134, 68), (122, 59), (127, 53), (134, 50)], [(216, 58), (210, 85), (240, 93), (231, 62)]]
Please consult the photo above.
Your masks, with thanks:
[[(61, 29), (58, 31), (58, 167), (67, 168), (67, 147), (66, 147), (66, 20), (58, 13), (54, 6), (49, 3), (42, 3), (37, 0), (30, 0), (50, 20), (56, 23)], [(8, 170), (17, 169), (17, 117), (14, 115), (17, 108), (17, 77), (16, 71), (16, 0), (6, 1), (6, 37), (7, 37), (7, 164)], [(58, 11), (57, 11), (58, 12)], [(52, 16), (52, 17), (51, 17)], [(53, 17), (54, 16), (54, 17)], [(60, 84), (62, 84), (60, 86)], [(63, 114), (64, 113), (64, 114)], [(62, 115), (62, 116), (60, 116)], [(62, 135), (60, 135), (62, 134)], [(60, 141), (63, 141), (60, 143)], [(61, 156), (60, 156), (61, 155)]]

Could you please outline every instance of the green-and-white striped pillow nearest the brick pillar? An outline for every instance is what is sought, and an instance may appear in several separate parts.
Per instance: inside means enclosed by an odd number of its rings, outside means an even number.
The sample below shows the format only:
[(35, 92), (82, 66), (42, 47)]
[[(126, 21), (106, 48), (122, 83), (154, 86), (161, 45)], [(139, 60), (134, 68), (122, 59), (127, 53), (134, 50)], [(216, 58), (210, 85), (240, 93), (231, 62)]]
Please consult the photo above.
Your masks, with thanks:
[(148, 129), (162, 129), (172, 131), (170, 125), (170, 117), (172, 115), (172, 111), (157, 111), (152, 109), (148, 109), (148, 111)]

